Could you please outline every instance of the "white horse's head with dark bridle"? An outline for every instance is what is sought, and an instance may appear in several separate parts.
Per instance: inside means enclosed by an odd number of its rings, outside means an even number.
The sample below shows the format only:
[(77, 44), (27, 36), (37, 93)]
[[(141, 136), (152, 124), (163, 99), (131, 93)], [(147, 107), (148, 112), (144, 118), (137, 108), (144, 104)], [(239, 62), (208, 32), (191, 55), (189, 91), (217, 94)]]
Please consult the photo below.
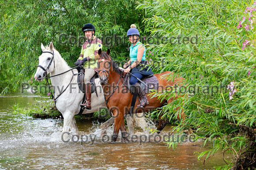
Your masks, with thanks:
[(41, 49), (43, 52), (39, 56), (39, 65), (34, 76), (37, 81), (42, 81), (48, 73), (53, 72), (55, 69), (53, 43), (51, 42), (49, 47), (46, 48), (41, 43)]

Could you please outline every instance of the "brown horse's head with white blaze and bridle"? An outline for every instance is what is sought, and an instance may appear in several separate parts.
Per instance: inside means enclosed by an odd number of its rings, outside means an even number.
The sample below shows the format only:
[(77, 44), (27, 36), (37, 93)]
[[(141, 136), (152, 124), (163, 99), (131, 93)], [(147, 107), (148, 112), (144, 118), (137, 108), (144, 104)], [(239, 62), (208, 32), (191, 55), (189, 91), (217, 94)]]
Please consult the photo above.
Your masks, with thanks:
[(111, 67), (112, 58), (109, 56), (110, 50), (107, 52), (102, 52), (102, 49), (98, 50), (99, 58), (97, 61), (98, 64), (98, 75), (100, 77), (100, 83), (105, 85), (109, 80), (109, 70)]

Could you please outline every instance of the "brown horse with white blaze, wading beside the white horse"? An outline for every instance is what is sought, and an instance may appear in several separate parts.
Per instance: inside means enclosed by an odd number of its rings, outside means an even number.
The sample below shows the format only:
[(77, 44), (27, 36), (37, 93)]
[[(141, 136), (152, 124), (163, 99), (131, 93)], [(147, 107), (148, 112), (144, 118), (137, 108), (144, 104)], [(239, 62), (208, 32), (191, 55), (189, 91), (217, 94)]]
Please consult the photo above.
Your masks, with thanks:
[[(127, 132), (124, 127), (124, 115), (128, 113), (131, 102), (132, 102), (132, 93), (126, 88), (123, 90), (126, 85), (123, 80), (123, 71), (118, 69), (115, 61), (109, 56), (110, 50), (107, 52), (102, 52), (101, 49), (98, 51), (98, 75), (100, 77), (100, 83), (102, 84), (103, 91), (105, 94), (105, 101), (107, 107), (111, 110), (114, 116), (114, 131), (112, 136), (112, 141), (117, 141), (119, 130), (121, 130), (122, 137), (124, 140), (127, 140)], [(174, 77), (172, 81), (167, 80), (165, 77), (173, 77), (173, 72), (162, 72), (158, 74), (154, 74), (157, 77), (159, 87), (174, 87), (175, 84), (182, 84), (184, 78)], [(124, 92), (125, 91), (125, 92)], [(150, 93), (146, 94), (149, 104), (143, 106), (143, 108), (135, 108), (133, 113), (140, 112), (150, 112), (153, 109), (159, 108), (166, 103), (171, 103), (175, 98), (169, 98), (167, 101), (159, 100), (158, 97), (150, 97)], [(139, 104), (139, 99), (136, 100), (136, 105)], [(177, 108), (179, 109), (179, 108)], [(159, 117), (161, 119), (161, 116)], [(184, 120), (184, 112), (182, 112), (178, 119)], [(159, 122), (159, 126), (157, 130), (159, 132), (166, 126), (167, 120), (161, 119)]]

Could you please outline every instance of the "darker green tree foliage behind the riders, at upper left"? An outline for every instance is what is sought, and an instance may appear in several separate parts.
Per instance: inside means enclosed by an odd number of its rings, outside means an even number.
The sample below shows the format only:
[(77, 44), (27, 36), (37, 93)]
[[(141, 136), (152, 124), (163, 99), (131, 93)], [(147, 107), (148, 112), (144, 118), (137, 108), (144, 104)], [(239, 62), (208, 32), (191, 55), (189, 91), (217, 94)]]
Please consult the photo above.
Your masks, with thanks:
[[(88, 22), (94, 24), (104, 51), (110, 48), (113, 58), (128, 59), (125, 33), (131, 24), (144, 32), (143, 16), (134, 0), (0, 0), (0, 94), (15, 91), (34, 77), (41, 43), (53, 42), (64, 60), (74, 65), (84, 41), (81, 29)], [(117, 36), (123, 37), (121, 42)]]

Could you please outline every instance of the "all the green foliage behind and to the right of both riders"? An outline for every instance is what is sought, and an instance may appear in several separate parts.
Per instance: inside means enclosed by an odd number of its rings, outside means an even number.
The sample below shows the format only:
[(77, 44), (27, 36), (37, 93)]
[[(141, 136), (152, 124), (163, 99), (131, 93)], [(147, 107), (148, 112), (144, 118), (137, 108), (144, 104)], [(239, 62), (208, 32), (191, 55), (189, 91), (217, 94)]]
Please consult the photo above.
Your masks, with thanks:
[[(73, 65), (83, 43), (81, 28), (87, 22), (95, 25), (103, 51), (110, 48), (115, 60), (127, 60), (129, 44), (125, 33), (131, 24), (136, 24), (145, 36), (142, 41), (147, 46), (147, 60), (159, 64), (152, 63), (153, 71), (173, 71), (185, 78), (186, 87), (177, 87), (178, 93), (186, 88), (185, 95), (157, 114), (173, 119), (184, 110), (186, 119), (175, 122), (178, 126), (173, 132), (179, 135), (188, 128), (197, 128), (196, 139), (213, 144), (199, 157), (225, 152), (239, 162), (244, 152), (255, 153), (252, 144), (255, 146), (256, 19), (252, 20), (252, 28), (249, 18), (256, 18), (256, 12), (244, 13), (246, 7), (252, 7), (251, 3), (0, 0), (0, 93), (17, 90), (21, 82), (30, 80), (38, 65), (41, 42), (47, 45), (52, 41), (68, 64)], [(117, 36), (122, 37), (121, 43)], [(227, 85), (236, 91), (230, 92)], [(173, 90), (153, 95), (163, 99), (177, 94)], [(177, 142), (169, 146), (174, 148)]]

